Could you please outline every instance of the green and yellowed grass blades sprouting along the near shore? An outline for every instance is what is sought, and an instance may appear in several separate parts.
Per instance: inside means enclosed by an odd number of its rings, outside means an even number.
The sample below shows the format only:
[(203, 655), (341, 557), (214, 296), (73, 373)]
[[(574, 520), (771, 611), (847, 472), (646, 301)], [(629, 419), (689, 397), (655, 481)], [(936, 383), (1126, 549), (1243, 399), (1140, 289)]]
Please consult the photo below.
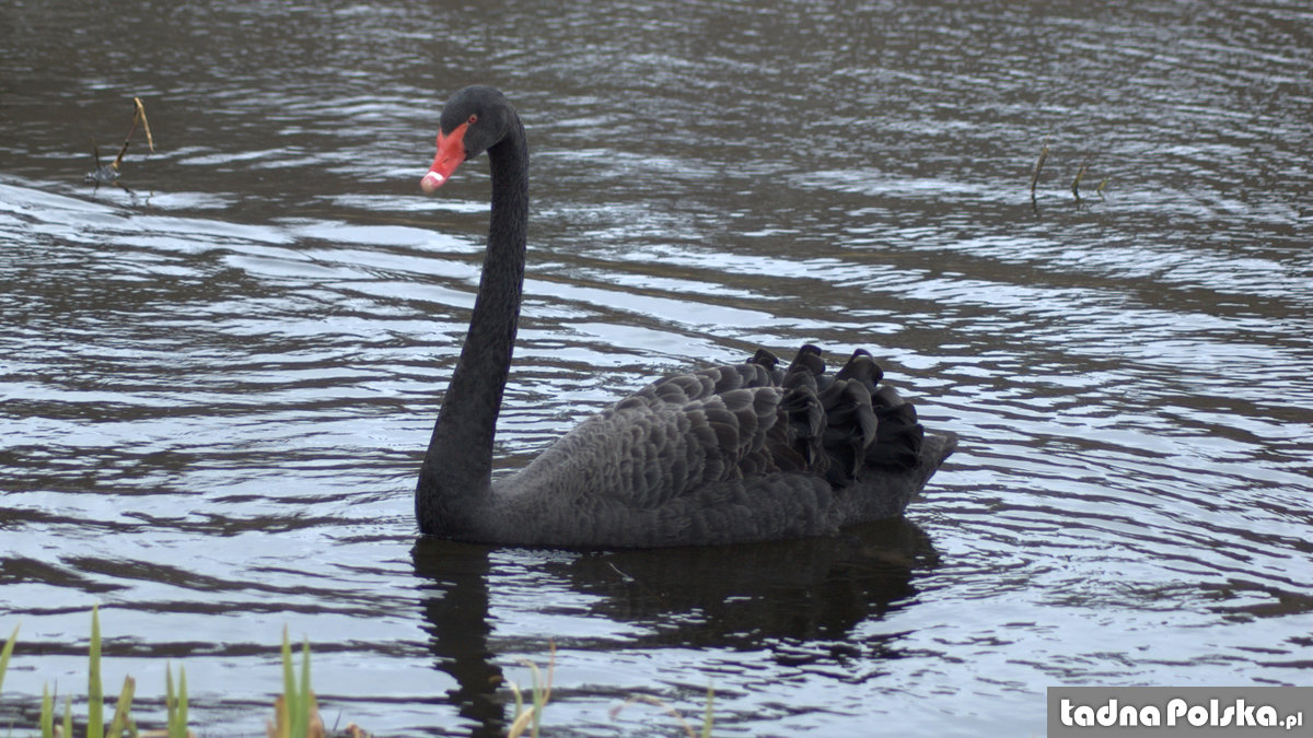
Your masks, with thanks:
[[(0, 649), (0, 697), (4, 696), (4, 676), (13, 655), (14, 645), (18, 642), (21, 624), (16, 625), (9, 638)], [(56, 708), (55, 697), (50, 693), (50, 684), (42, 687), (41, 717), (37, 730), (41, 738), (197, 738), (196, 731), (188, 725), (188, 696), (186, 696), (186, 670), (179, 664), (177, 682), (173, 680), (173, 664), (164, 667), (164, 712), (165, 721), (161, 727), (139, 729), (133, 714), (133, 699), (137, 696), (137, 680), (133, 676), (123, 679), (122, 689), (114, 703), (113, 717), (108, 726), (105, 724), (105, 693), (100, 670), (100, 605), (93, 605), (91, 611), (91, 646), (88, 649), (87, 670), (87, 709), (85, 724), (75, 725), (74, 700), (71, 695), (64, 695), (62, 708)], [(555, 674), (555, 642), (550, 643), (546, 674), (537, 664), (521, 661), (529, 668), (533, 684), (529, 692), (528, 704), (520, 687), (511, 682), (511, 692), (515, 697), (515, 713), (507, 730), (507, 738), (521, 738), (530, 735), (538, 738), (541, 729), (542, 710), (551, 699), (551, 679)], [(328, 730), (319, 716), (319, 703), (314, 689), (310, 688), (310, 640), (302, 641), (299, 670), (293, 664), (291, 642), (288, 640), (288, 629), (282, 629), (282, 693), (273, 701), (273, 717), (265, 721), (268, 738), (372, 738), (372, 734), (355, 722), (347, 727)], [(299, 671), (299, 674), (298, 674)], [(714, 692), (706, 688), (706, 708), (700, 731), (695, 731), (674, 708), (666, 705), (656, 697), (639, 695), (630, 697), (622, 705), (611, 710), (614, 718), (625, 706), (634, 703), (646, 703), (660, 708), (667, 714), (674, 716), (679, 726), (688, 738), (710, 738), (712, 735), (712, 700)], [(56, 713), (58, 710), (58, 713)], [(83, 710), (79, 710), (83, 712)], [(5, 730), (7, 738), (13, 738), (16, 726), (0, 726)], [(77, 727), (84, 727), (79, 733)], [(32, 733), (37, 735), (38, 733)], [(25, 735), (20, 733), (18, 735)]]

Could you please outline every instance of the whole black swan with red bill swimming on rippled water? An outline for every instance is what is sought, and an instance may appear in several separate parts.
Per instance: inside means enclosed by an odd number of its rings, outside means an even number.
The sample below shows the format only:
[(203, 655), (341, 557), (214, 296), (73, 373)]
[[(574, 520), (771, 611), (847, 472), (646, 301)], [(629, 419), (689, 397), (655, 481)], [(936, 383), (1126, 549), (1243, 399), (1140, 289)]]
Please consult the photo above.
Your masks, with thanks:
[(871, 355), (835, 374), (804, 345), (788, 366), (658, 380), (492, 482), (492, 437), (524, 285), (529, 156), (503, 95), (467, 87), (442, 109), (431, 193), (488, 152), (492, 215), (469, 335), (415, 490), (427, 534), (482, 544), (651, 548), (798, 538), (894, 517), (952, 453)]

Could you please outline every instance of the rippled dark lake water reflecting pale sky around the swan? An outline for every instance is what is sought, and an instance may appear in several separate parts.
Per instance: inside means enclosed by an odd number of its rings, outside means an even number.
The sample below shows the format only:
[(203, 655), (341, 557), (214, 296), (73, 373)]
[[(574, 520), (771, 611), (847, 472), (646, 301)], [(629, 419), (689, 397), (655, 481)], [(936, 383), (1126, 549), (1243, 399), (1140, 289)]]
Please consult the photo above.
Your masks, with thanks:
[[(1313, 13), (1289, 3), (7, 3), (0, 720), (105, 679), (328, 722), (1037, 735), (1054, 684), (1313, 682)], [(960, 450), (832, 540), (419, 542), (487, 168), (533, 155), (513, 469), (650, 378), (869, 347)], [(146, 105), (122, 183), (93, 188)], [(1048, 158), (1029, 192), (1040, 150)], [(1073, 180), (1087, 165), (1081, 193)], [(1103, 184), (1102, 193), (1096, 193)], [(5, 716), (18, 716), (16, 718)], [(29, 721), (30, 718), (30, 721)]]

